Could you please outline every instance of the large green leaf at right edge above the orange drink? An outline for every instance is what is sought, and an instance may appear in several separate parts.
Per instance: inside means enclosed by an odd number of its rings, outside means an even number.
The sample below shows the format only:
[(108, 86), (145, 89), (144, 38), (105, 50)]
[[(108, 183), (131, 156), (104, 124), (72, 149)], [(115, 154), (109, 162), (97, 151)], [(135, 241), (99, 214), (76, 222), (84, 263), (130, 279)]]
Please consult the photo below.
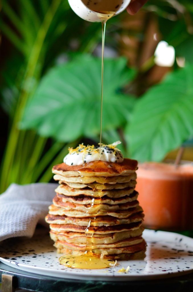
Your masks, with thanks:
[(126, 127), (132, 158), (161, 161), (193, 136), (193, 65), (173, 72), (142, 96)]

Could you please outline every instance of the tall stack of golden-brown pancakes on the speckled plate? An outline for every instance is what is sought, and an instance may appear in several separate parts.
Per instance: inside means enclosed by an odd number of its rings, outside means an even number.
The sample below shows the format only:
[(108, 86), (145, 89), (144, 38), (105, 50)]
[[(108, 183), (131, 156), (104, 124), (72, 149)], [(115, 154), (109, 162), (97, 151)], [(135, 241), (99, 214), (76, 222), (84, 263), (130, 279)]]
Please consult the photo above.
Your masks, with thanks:
[(137, 161), (55, 165), (59, 181), (45, 220), (59, 253), (127, 259), (143, 256), (143, 210), (135, 191)]

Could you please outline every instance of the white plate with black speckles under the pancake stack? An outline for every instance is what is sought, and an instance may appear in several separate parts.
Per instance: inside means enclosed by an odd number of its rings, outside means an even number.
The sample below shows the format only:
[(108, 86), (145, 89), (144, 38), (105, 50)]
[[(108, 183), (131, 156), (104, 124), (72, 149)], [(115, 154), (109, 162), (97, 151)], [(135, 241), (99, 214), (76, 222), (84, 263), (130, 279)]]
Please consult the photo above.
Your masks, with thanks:
[[(193, 239), (172, 232), (145, 230), (148, 246), (144, 260), (118, 261), (102, 270), (71, 269), (59, 264), (48, 230), (33, 238), (8, 239), (0, 245), (0, 261), (19, 270), (68, 279), (131, 281), (180, 276), (193, 272)], [(128, 272), (120, 273), (122, 267)]]

